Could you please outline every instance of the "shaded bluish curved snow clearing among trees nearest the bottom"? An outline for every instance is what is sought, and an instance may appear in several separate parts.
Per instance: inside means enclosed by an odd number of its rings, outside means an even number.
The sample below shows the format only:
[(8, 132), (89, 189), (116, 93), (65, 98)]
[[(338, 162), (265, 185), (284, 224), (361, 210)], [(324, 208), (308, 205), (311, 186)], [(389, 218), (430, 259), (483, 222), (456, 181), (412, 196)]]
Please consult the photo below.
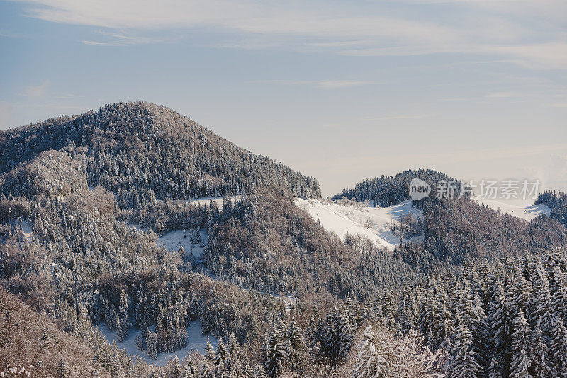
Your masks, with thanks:
[[(150, 362), (154, 365), (163, 365), (165, 362), (167, 362), (167, 360), (175, 356), (179, 357), (179, 360), (181, 360), (187, 353), (191, 352), (191, 350), (196, 350), (199, 353), (204, 353), (205, 346), (207, 345), (207, 336), (203, 336), (203, 328), (201, 328), (201, 323), (198, 320), (191, 321), (191, 326), (187, 328), (187, 346), (174, 352), (159, 353), (159, 355), (157, 355), (157, 359), (154, 360), (152, 357), (149, 357), (147, 355), (145, 350), (137, 350), (136, 348), (134, 340), (136, 336), (142, 334), (142, 330), (130, 328), (130, 331), (128, 331), (128, 338), (123, 340), (122, 343), (118, 343), (116, 332), (108, 331), (105, 323), (101, 323), (96, 327), (99, 328), (99, 331), (101, 331), (104, 338), (108, 340), (108, 343), (112, 344), (112, 341), (114, 340), (116, 341), (116, 346), (120, 349), (125, 349), (128, 355), (132, 357), (139, 356), (142, 360)], [(214, 336), (210, 336), (210, 344), (213, 345), (213, 348), (216, 349), (218, 345), (218, 339)]]

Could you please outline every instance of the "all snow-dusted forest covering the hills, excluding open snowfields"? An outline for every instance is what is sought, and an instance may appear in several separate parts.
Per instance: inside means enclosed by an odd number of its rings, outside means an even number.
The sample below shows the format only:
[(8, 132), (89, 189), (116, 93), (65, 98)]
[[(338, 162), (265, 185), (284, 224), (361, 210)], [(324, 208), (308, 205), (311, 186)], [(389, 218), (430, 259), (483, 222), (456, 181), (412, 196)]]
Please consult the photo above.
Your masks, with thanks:
[[(383, 251), (294, 205), (320, 196), (313, 178), (157, 105), (0, 139), (4, 376), (566, 376), (554, 217), (432, 195), (424, 241)], [(343, 195), (398, 203), (413, 177), (452, 180), (406, 171)], [(205, 195), (223, 198), (188, 200)], [(211, 342), (181, 353), (197, 322)], [(179, 356), (152, 363), (166, 353)]]

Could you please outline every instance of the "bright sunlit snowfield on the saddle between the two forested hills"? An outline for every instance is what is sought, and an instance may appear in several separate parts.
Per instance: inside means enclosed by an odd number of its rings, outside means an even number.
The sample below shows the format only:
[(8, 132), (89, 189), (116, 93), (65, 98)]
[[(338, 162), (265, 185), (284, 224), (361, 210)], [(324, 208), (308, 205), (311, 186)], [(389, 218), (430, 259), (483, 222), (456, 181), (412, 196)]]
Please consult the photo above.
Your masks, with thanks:
[[(401, 243), (400, 237), (391, 231), (391, 225), (400, 222), (400, 217), (412, 214), (423, 217), (422, 210), (412, 207), (412, 201), (407, 200), (390, 207), (371, 207), (366, 202), (356, 205), (342, 205), (337, 201), (303, 200), (296, 198), (295, 204), (313, 217), (319, 219), (322, 227), (335, 232), (341, 240), (349, 234), (361, 234), (381, 248), (393, 249)], [(418, 241), (423, 236), (412, 238)]]

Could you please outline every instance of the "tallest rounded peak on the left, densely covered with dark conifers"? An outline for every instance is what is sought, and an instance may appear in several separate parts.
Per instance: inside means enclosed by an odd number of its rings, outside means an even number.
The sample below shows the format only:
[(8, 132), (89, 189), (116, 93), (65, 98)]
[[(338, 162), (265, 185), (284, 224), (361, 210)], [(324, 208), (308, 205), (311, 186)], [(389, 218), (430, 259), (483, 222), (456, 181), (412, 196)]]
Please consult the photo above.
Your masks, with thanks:
[(0, 173), (50, 149), (82, 152), (89, 185), (111, 190), (122, 207), (156, 198), (236, 195), (263, 186), (320, 197), (314, 178), (153, 103), (115, 103), (0, 132)]

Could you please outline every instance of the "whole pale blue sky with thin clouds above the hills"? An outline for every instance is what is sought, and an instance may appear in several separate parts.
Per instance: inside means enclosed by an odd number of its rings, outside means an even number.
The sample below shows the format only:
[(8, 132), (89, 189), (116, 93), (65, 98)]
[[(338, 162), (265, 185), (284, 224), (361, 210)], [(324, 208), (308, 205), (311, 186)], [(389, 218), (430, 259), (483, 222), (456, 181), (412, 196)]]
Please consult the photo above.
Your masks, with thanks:
[(567, 190), (567, 1), (0, 1), (0, 129), (145, 100), (318, 178)]

